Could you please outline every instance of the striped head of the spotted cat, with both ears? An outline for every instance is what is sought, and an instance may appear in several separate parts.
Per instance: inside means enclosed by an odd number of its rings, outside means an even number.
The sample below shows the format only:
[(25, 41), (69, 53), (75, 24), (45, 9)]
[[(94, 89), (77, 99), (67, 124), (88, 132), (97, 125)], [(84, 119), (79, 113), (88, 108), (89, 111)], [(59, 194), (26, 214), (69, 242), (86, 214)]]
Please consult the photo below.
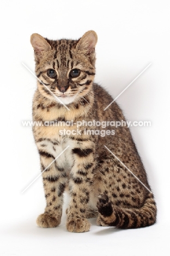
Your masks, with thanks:
[[(78, 40), (48, 40), (32, 34), (35, 73), (41, 95), (64, 104), (78, 102), (92, 89), (95, 75), (95, 45), (97, 35), (86, 32)], [(42, 83), (40, 83), (43, 82)]]

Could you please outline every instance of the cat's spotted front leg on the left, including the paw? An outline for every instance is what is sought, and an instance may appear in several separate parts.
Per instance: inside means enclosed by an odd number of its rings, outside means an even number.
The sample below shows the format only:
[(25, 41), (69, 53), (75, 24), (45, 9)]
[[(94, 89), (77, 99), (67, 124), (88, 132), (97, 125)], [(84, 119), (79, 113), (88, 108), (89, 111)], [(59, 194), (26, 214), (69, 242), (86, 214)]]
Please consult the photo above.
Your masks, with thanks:
[(37, 224), (41, 228), (54, 228), (60, 224), (62, 217), (66, 173), (64, 168), (57, 165), (57, 161), (51, 164), (54, 159), (50, 154), (40, 154), (46, 207), (44, 213), (37, 218)]

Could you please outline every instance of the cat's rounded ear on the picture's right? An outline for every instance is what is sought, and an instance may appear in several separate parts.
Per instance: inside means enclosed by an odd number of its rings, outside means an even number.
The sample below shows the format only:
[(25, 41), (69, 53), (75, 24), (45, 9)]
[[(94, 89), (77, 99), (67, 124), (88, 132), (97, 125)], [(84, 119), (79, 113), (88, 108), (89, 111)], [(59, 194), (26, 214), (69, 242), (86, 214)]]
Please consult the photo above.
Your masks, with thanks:
[(87, 31), (78, 41), (76, 50), (81, 51), (87, 55), (93, 54), (97, 41), (98, 36), (96, 32), (93, 30)]

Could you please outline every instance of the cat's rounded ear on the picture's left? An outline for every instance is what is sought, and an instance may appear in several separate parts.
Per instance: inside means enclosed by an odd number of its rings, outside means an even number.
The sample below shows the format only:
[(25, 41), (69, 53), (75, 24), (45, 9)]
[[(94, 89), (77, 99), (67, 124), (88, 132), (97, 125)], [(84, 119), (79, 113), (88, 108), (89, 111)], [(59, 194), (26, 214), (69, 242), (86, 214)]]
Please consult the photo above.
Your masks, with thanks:
[(51, 45), (40, 34), (32, 34), (31, 44), (34, 48), (35, 59), (39, 59), (44, 51), (51, 50)]

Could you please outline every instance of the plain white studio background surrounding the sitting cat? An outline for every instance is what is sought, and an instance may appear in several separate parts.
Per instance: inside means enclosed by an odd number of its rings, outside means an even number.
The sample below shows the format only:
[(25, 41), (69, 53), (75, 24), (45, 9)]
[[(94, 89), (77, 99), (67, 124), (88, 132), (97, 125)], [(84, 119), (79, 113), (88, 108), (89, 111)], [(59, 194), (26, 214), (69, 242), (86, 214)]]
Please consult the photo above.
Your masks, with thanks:
[[(1, 245), (0, 255), (168, 255), (169, 246), (169, 1), (9, 1), (1, 0)], [(38, 228), (45, 199), (32, 128), (36, 79), (32, 33), (49, 39), (98, 34), (96, 78), (116, 97), (142, 70), (117, 102), (128, 120), (151, 121), (131, 127), (155, 194), (157, 224), (138, 230), (99, 227), (66, 231)], [(64, 205), (66, 207), (66, 205)]]

